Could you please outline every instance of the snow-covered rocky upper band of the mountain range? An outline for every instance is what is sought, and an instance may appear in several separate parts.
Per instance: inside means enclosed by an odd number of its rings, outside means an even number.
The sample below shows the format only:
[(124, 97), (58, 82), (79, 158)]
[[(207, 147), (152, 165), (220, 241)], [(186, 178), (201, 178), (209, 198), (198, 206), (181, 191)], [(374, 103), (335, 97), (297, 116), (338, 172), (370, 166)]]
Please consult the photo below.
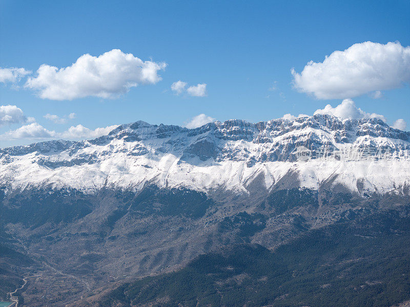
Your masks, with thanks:
[[(325, 115), (257, 124), (230, 120), (196, 129), (139, 121), (95, 140), (0, 149), (0, 187), (92, 193), (156, 184), (248, 193), (255, 179), (270, 191), (290, 178), (283, 188), (342, 185), (359, 195), (408, 194), (409, 140), (410, 133), (378, 119)], [(300, 159), (300, 150), (313, 156)]]

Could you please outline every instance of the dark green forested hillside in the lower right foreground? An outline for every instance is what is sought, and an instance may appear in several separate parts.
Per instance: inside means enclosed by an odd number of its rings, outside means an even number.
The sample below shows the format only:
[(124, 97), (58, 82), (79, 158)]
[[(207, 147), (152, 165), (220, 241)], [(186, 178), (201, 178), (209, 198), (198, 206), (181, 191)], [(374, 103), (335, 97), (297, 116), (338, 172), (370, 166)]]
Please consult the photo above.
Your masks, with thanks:
[(410, 206), (312, 230), (271, 252), (236, 245), (127, 283), (100, 306), (391, 306), (410, 298)]

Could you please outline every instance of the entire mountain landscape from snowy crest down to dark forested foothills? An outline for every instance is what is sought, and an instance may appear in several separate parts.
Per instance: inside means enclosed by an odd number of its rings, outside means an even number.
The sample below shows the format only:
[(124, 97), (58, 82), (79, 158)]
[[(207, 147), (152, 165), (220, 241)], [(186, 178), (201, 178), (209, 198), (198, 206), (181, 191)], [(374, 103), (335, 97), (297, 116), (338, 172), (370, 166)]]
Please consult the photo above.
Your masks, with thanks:
[(315, 115), (0, 149), (0, 294), (36, 276), (29, 306), (403, 302), (409, 141)]

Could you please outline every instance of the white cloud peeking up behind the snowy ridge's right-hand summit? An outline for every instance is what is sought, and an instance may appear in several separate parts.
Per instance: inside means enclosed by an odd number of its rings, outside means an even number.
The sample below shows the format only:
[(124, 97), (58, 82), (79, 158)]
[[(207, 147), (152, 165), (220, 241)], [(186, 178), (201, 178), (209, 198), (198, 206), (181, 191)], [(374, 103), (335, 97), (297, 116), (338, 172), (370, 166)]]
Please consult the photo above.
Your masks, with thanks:
[(317, 109), (314, 114), (327, 114), (340, 117), (342, 119), (361, 119), (361, 118), (380, 118), (382, 121), (386, 121), (383, 115), (376, 113), (367, 113), (362, 111), (360, 107), (357, 107), (352, 99), (344, 99), (341, 104), (336, 107), (327, 104), (323, 109)]

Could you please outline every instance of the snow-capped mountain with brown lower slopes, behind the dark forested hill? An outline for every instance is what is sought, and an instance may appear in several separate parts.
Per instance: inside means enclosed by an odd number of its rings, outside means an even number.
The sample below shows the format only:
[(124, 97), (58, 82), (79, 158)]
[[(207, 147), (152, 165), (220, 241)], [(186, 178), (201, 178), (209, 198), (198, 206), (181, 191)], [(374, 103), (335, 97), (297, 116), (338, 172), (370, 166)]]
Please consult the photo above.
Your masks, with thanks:
[(51, 305), (81, 306), (100, 287), (223, 246), (275, 250), (360, 216), (408, 216), (408, 136), (379, 119), (315, 115), (195, 129), (137, 121), (93, 140), (0, 149), (0, 230), (10, 237), (0, 243), (35, 264), (18, 272), (43, 274), (28, 284), (28, 305), (43, 305), (48, 284)]

